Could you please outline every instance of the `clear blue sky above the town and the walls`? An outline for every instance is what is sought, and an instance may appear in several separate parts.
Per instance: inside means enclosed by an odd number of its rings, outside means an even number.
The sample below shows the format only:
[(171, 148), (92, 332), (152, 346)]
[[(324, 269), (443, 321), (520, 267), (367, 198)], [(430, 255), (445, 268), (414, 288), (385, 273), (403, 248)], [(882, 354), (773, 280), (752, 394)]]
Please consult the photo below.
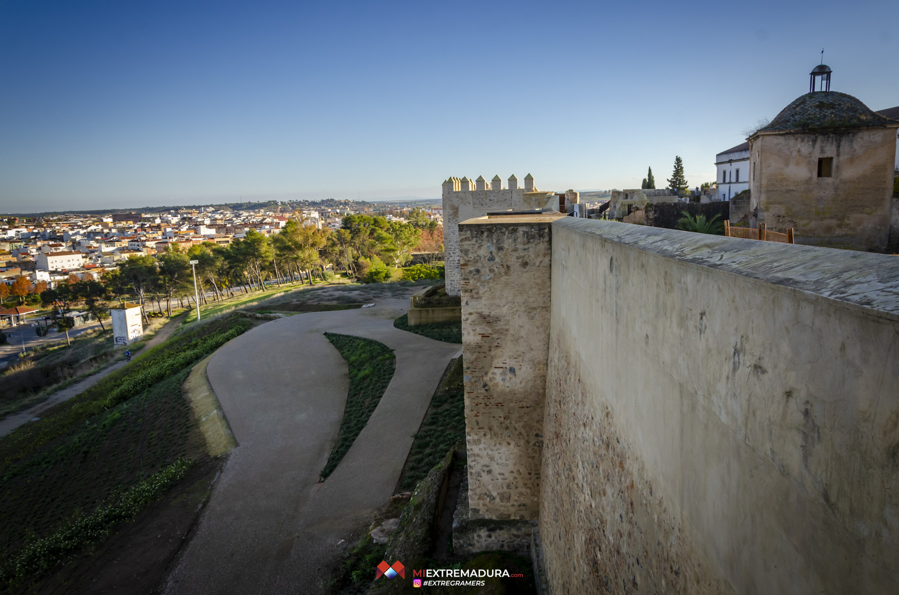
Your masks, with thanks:
[(805, 93), (899, 105), (890, 2), (0, 0), (0, 212), (690, 185)]

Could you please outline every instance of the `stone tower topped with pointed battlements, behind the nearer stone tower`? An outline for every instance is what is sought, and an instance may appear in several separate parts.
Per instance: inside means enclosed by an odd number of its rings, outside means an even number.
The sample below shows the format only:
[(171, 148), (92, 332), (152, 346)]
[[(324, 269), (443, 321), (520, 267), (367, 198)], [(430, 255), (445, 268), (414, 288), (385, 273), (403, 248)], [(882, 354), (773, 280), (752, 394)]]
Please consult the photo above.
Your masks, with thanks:
[(519, 188), (518, 178), (509, 177), (508, 187), (498, 175), (489, 188), (483, 176), (449, 178), (443, 182), (443, 250), (446, 270), (446, 289), (450, 296), (459, 296), (458, 224), (470, 218), (483, 217), (488, 212), (503, 209), (544, 209), (553, 207), (553, 192), (539, 191), (530, 175)]

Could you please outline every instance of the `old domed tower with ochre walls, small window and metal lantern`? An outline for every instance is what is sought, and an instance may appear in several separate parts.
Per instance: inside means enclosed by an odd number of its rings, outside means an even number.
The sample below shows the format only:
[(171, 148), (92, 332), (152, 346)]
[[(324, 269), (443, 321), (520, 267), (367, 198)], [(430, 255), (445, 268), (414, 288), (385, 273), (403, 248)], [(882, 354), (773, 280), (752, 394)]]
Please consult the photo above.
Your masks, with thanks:
[(899, 121), (831, 91), (831, 73), (814, 67), (809, 93), (750, 136), (752, 226), (792, 227), (797, 244), (883, 251)]

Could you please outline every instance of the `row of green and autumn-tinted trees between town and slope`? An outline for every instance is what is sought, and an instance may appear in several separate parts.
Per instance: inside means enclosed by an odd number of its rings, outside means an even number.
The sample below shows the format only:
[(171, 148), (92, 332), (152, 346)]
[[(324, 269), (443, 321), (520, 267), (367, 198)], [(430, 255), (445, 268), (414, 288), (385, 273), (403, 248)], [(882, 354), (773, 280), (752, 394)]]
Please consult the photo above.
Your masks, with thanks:
[[(191, 245), (182, 250), (170, 244), (165, 252), (131, 255), (117, 268), (95, 278), (87, 272), (82, 278), (70, 274), (67, 281), (49, 289), (44, 281), (31, 284), (20, 277), (13, 288), (0, 285), (0, 297), (13, 295), (20, 303), (40, 298), (42, 306), (52, 307), (58, 320), (64, 320), (76, 304), (95, 318), (108, 314), (109, 302), (124, 304), (132, 297), (142, 308), (154, 302), (159, 314), (172, 315), (174, 303), (191, 307), (194, 272), (201, 304), (218, 301), (241, 292), (264, 289), (272, 283), (331, 280), (333, 271), (344, 271), (363, 281), (389, 280), (412, 259), (412, 252), (423, 248), (442, 251), (442, 228), (427, 218), (422, 209), (413, 209), (409, 222), (388, 221), (384, 217), (348, 215), (340, 229), (318, 229), (303, 221), (289, 219), (280, 233), (263, 235), (250, 230), (231, 244), (213, 242)], [(191, 267), (190, 262), (197, 263)], [(331, 269), (329, 271), (329, 269)], [(387, 271), (387, 274), (383, 273)], [(3, 290), (6, 294), (3, 294)], [(147, 305), (150, 306), (147, 308)], [(65, 326), (65, 323), (58, 323)], [(59, 326), (62, 330), (62, 326)]]

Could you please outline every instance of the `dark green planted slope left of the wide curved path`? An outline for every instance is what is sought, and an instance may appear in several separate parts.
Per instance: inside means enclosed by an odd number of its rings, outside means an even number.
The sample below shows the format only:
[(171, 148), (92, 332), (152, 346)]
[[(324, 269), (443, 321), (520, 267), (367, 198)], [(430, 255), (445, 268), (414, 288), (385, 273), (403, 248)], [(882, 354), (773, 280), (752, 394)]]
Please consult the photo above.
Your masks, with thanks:
[(250, 325), (229, 316), (176, 335), (0, 439), (6, 586), (27, 590), (102, 542), (205, 456), (182, 384)]

